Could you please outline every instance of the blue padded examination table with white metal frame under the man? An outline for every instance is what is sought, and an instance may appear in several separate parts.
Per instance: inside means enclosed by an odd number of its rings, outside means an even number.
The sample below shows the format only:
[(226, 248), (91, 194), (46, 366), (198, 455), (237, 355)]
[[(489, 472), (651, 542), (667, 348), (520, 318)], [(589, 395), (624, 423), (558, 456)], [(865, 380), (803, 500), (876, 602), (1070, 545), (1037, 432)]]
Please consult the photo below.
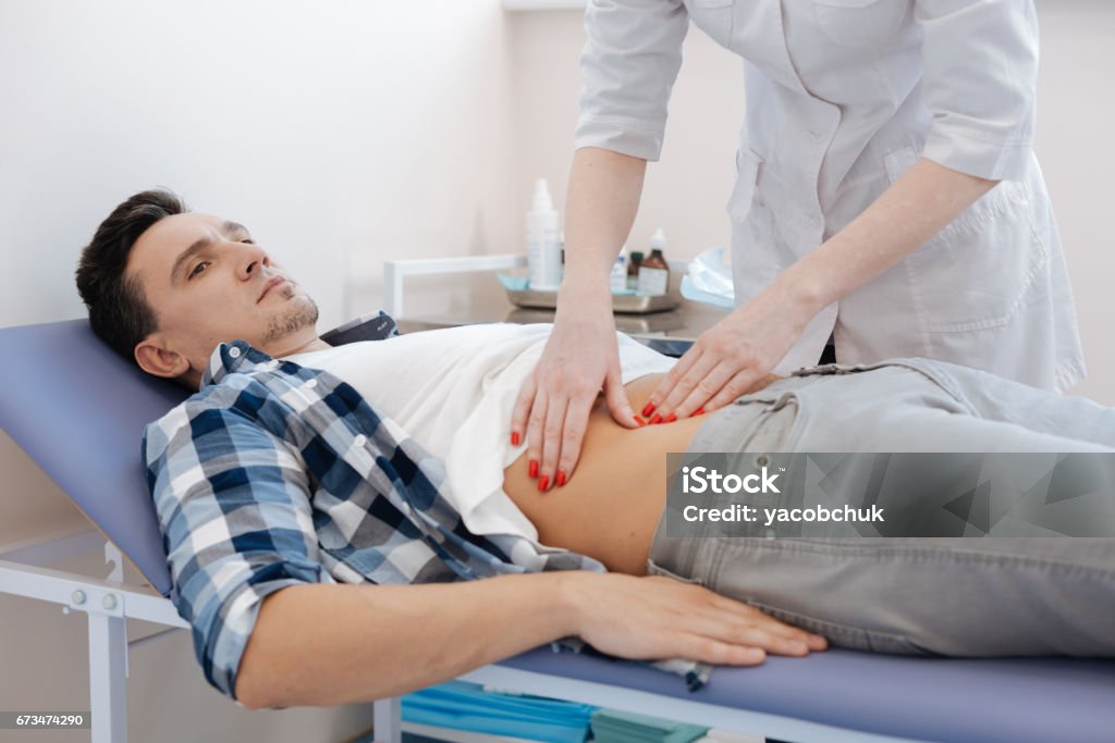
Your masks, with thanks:
[[(0, 553), (0, 590), (87, 614), (93, 740), (118, 743), (127, 734), (125, 618), (186, 626), (167, 599), (171, 577), (139, 458), (144, 424), (185, 393), (117, 358), (85, 320), (0, 330), (0, 427), (151, 585), (142, 590)], [(1115, 741), (1113, 661), (832, 649), (719, 668), (690, 693), (641, 664), (539, 648), (463, 678), (799, 743)], [(378, 740), (398, 739), (397, 700), (377, 703), (376, 723)]]

